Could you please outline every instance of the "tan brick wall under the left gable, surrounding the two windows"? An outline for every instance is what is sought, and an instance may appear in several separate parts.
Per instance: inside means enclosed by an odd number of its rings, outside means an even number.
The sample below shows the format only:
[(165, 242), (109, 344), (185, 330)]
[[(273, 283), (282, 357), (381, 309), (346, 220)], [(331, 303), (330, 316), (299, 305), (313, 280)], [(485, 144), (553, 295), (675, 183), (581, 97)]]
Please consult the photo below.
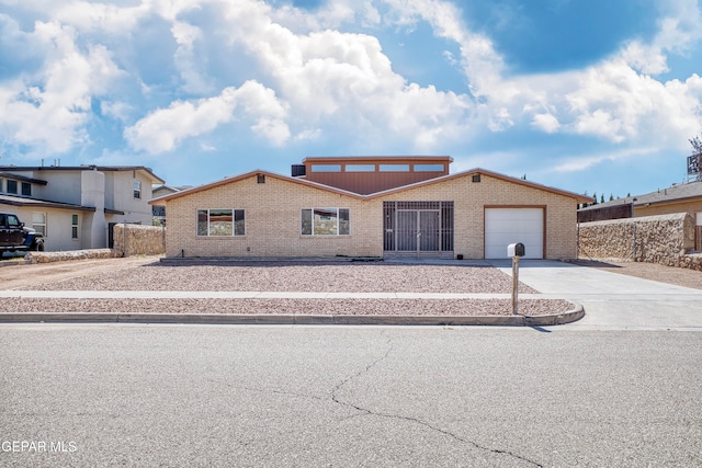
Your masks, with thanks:
[[(244, 209), (246, 236), (199, 237), (197, 209)], [(349, 208), (349, 236), (302, 236), (303, 208)], [(381, 201), (330, 193), (257, 176), (214, 186), (168, 202), (167, 256), (382, 256)], [(380, 226), (380, 228), (378, 228)]]

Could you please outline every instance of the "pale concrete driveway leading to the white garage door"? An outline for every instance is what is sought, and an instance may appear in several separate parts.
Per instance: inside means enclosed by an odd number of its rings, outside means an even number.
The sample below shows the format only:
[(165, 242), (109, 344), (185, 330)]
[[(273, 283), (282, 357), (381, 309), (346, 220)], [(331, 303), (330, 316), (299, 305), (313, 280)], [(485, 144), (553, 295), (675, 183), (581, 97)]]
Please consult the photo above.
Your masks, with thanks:
[[(491, 265), (512, 274), (512, 261)], [(702, 331), (702, 290), (547, 260), (522, 260), (519, 279), (546, 297), (582, 304), (566, 328)]]

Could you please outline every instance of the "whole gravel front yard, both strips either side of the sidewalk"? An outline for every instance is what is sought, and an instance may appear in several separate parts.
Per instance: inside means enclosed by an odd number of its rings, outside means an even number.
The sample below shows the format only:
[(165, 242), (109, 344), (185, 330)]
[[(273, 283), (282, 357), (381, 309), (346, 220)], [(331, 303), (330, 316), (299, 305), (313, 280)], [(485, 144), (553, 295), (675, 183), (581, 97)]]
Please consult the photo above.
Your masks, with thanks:
[[(197, 290), (313, 293), (487, 293), (510, 294), (512, 278), (490, 266), (387, 264), (382, 262), (230, 262), (163, 264), (111, 259), (81, 272), (81, 262), (46, 267), (26, 290)], [(131, 262), (134, 262), (132, 260)], [(32, 274), (24, 265), (23, 275)], [(71, 275), (66, 277), (66, 271)], [(3, 269), (0, 274), (9, 273)], [(53, 278), (48, 274), (59, 271)], [(35, 269), (35, 272), (42, 271)], [(536, 294), (520, 284), (520, 293)], [(520, 299), (520, 313), (562, 313), (565, 300)], [(509, 316), (510, 299), (66, 299), (21, 298), (0, 303), (1, 312), (170, 312), (282, 315)]]

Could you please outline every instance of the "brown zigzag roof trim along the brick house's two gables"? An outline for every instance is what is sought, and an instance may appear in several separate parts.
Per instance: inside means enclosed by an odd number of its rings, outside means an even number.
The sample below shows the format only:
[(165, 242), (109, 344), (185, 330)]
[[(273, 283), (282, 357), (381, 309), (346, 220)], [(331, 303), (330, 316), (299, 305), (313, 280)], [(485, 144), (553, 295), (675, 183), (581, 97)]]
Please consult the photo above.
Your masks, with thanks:
[(215, 189), (215, 187), (218, 187), (218, 186), (222, 186), (222, 185), (226, 185), (226, 184), (228, 184), (230, 182), (238, 182), (238, 181), (241, 181), (241, 180), (245, 180), (245, 179), (249, 179), (249, 178), (252, 178), (252, 176), (258, 175), (258, 174), (263, 174), (263, 175), (271, 176), (271, 178), (274, 178), (274, 179), (279, 179), (279, 180), (282, 180), (282, 181), (292, 182), (292, 183), (296, 183), (296, 184), (301, 184), (301, 185), (306, 185), (306, 186), (318, 189), (318, 190), (321, 190), (321, 191), (325, 191), (325, 192), (331, 192), (331, 193), (336, 193), (336, 194), (339, 194), (339, 195), (349, 196), (351, 198), (373, 199), (373, 198), (382, 197), (382, 196), (385, 196), (385, 195), (388, 195), (388, 194), (399, 193), (399, 192), (417, 189), (417, 187), (420, 187), (420, 186), (430, 185), (430, 184), (434, 184), (434, 183), (440, 183), (440, 182), (444, 182), (444, 181), (452, 180), (452, 179), (465, 178), (465, 176), (473, 175), (473, 174), (478, 174), (478, 173), (487, 175), (487, 176), (491, 176), (491, 178), (495, 178), (495, 179), (500, 179), (500, 180), (506, 181), (506, 182), (511, 182), (511, 183), (516, 183), (516, 184), (519, 184), (519, 185), (524, 185), (524, 186), (528, 186), (528, 187), (531, 187), (531, 189), (536, 189), (536, 190), (542, 190), (542, 191), (545, 191), (545, 192), (550, 192), (550, 193), (553, 193), (553, 194), (556, 194), (556, 195), (562, 195), (562, 196), (567, 196), (567, 197), (570, 197), (570, 198), (575, 198), (577, 203), (588, 203), (588, 202), (591, 201), (590, 197), (584, 196), (584, 195), (579, 195), (579, 194), (577, 194), (575, 192), (568, 192), (568, 191), (561, 190), (561, 189), (554, 189), (554, 187), (550, 187), (550, 186), (546, 186), (546, 185), (536, 184), (536, 183), (533, 183), (533, 182), (524, 181), (522, 179), (516, 179), (516, 178), (511, 178), (509, 175), (505, 175), (505, 174), (500, 174), (500, 173), (497, 173), (497, 172), (487, 171), (485, 169), (479, 169), (478, 168), (478, 169), (472, 169), (469, 171), (458, 172), (458, 173), (455, 173), (455, 174), (442, 175), (442, 176), (439, 176), (439, 178), (435, 178), (435, 179), (431, 179), (431, 180), (428, 180), (428, 181), (417, 182), (417, 183), (414, 183), (414, 184), (404, 185), (401, 187), (390, 189), (390, 190), (386, 190), (386, 191), (383, 191), (383, 192), (376, 192), (376, 193), (372, 193), (372, 194), (369, 194), (369, 195), (360, 195), (358, 193), (348, 192), (348, 191), (344, 191), (344, 190), (341, 190), (341, 189), (331, 187), (329, 185), (324, 185), (324, 184), (320, 184), (320, 183), (317, 183), (317, 182), (312, 182), (312, 181), (308, 181), (308, 180), (305, 180), (305, 179), (291, 178), (291, 176), (287, 176), (287, 175), (275, 174), (273, 172), (268, 172), (268, 171), (263, 171), (263, 170), (256, 170), (256, 171), (247, 172), (247, 173), (244, 173), (244, 174), (240, 174), (240, 175), (235, 175), (233, 178), (225, 178), (225, 179), (222, 179), (219, 181), (212, 182), (212, 183), (204, 184), (204, 185), (200, 185), (200, 186), (196, 186), (196, 187), (193, 187), (193, 189), (188, 189), (188, 190), (183, 190), (183, 191), (180, 191), (180, 192), (171, 193), (171, 194), (168, 194), (168, 195), (159, 196), (158, 198), (150, 199), (148, 203), (149, 203), (149, 205), (160, 205), (160, 202), (168, 202), (168, 201), (171, 201), (171, 199), (180, 198), (181, 196), (192, 195), (192, 194), (197, 193), (197, 192), (203, 192), (203, 191)]

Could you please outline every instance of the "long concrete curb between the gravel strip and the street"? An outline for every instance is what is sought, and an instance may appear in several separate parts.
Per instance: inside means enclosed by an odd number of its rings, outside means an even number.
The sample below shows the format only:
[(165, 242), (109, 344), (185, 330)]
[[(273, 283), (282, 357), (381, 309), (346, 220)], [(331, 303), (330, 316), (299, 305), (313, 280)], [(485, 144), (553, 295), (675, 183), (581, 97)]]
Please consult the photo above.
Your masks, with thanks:
[(325, 316), (236, 313), (100, 313), (100, 312), (2, 312), (0, 323), (203, 323), (284, 326), (494, 326), (546, 327), (580, 320), (585, 309), (550, 316)]

